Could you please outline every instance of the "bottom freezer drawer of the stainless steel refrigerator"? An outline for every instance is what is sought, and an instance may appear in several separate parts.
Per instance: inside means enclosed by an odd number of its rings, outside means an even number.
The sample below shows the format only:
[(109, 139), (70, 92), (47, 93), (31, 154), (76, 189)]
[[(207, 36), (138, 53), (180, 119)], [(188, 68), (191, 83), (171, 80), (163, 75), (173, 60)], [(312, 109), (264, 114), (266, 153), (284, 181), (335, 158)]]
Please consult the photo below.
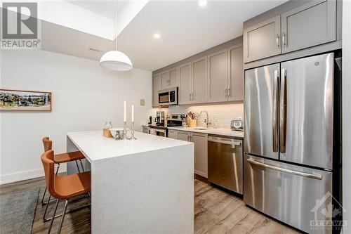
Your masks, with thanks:
[(331, 181), (329, 171), (244, 155), (244, 202), (307, 233), (331, 233), (310, 226), (331, 221), (322, 214), (332, 202)]

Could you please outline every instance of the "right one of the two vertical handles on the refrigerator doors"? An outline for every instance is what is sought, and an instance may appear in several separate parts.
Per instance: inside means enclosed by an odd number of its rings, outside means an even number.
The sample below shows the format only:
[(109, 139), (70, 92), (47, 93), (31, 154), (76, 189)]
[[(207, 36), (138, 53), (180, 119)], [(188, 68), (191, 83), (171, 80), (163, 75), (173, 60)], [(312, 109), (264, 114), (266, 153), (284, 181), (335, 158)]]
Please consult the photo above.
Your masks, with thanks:
[(285, 153), (286, 147), (286, 70), (282, 69), (282, 79), (280, 82), (280, 144), (279, 152)]

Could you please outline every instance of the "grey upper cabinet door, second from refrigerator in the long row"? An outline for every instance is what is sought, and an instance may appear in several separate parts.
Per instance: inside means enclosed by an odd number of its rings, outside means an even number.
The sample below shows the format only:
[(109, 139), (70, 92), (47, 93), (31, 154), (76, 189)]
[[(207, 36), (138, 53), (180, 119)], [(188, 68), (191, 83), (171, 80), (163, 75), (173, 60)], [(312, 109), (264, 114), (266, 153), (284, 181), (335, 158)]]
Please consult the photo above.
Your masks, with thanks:
[(228, 58), (227, 49), (208, 56), (208, 102), (227, 100)]

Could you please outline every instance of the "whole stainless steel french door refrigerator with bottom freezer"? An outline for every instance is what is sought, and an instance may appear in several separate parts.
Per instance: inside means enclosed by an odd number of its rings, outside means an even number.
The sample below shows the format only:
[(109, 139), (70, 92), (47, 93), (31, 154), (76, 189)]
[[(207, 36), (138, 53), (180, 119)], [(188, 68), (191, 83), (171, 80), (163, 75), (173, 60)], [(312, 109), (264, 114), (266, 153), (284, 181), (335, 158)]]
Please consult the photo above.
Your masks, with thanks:
[(245, 71), (244, 202), (307, 233), (331, 233), (333, 70), (327, 53)]

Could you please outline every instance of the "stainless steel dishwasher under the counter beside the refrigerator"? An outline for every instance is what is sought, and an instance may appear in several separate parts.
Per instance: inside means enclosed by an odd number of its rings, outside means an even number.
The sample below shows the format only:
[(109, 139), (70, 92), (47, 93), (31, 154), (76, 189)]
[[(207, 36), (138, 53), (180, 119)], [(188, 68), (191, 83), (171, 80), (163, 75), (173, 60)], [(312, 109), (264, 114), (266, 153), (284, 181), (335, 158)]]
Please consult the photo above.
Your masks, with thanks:
[(242, 194), (242, 140), (208, 136), (208, 181)]

